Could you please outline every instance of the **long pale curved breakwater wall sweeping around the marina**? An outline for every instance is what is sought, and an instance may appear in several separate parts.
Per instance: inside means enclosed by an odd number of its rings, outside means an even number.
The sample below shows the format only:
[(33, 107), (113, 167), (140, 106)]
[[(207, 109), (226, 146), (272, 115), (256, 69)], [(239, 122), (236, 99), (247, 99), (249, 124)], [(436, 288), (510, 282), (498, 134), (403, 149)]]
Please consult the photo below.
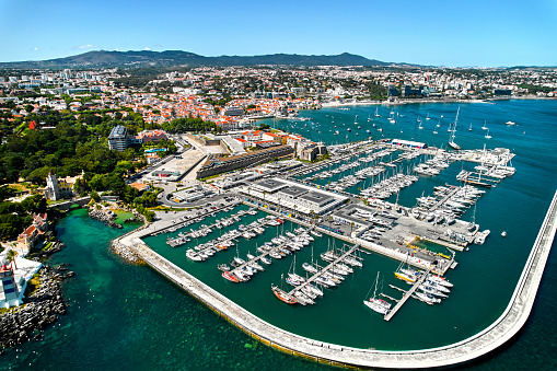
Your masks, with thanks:
[(542, 280), (557, 229), (557, 193), (555, 194), (537, 239), (532, 247), (510, 303), (490, 326), (462, 341), (444, 347), (382, 351), (344, 347), (305, 338), (278, 328), (244, 310), (221, 293), (202, 283), (138, 237), (120, 240), (147, 264), (202, 301), (223, 318), (251, 337), (283, 352), (346, 368), (418, 369), (457, 364), (481, 357), (511, 339), (526, 322)]

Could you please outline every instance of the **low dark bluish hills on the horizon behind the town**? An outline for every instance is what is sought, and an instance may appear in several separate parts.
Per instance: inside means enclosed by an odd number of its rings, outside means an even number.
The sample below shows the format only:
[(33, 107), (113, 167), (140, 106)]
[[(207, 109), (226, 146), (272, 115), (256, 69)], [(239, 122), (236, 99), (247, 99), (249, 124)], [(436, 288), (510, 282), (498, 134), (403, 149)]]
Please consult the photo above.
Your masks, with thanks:
[(336, 56), (304, 56), (274, 54), (264, 56), (204, 57), (189, 51), (107, 51), (96, 50), (77, 56), (36, 61), (1, 62), (0, 68), (62, 69), (62, 68), (114, 68), (114, 67), (175, 67), (175, 66), (409, 66), (391, 63), (362, 56), (343, 53)]

